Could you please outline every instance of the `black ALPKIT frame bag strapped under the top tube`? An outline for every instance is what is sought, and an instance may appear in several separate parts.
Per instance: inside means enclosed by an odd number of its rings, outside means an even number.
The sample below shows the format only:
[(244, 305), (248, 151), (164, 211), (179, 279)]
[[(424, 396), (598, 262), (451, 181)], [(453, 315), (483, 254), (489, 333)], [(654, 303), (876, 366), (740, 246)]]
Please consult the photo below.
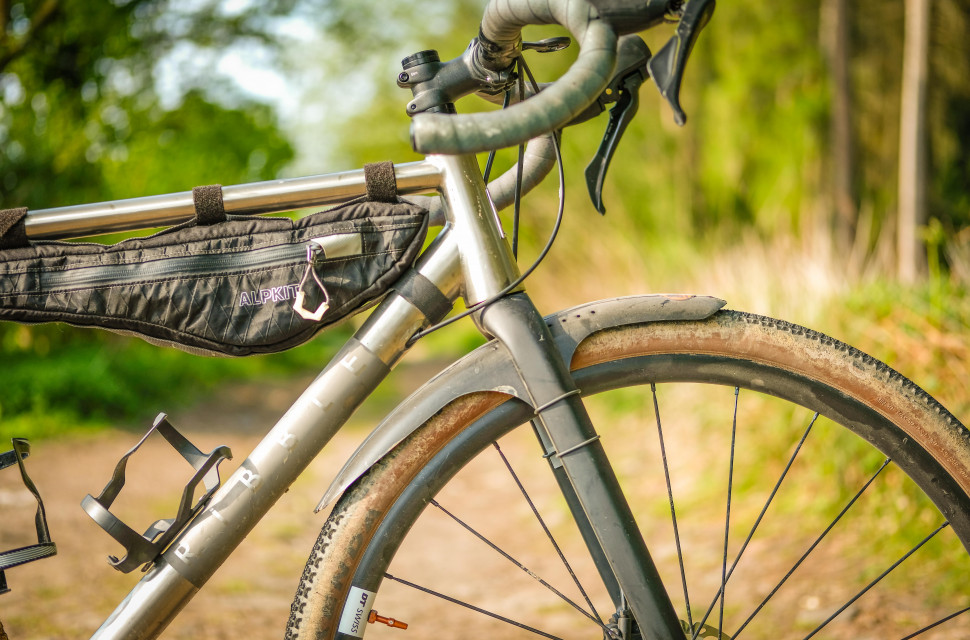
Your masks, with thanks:
[[(425, 209), (396, 196), (293, 221), (226, 215), (218, 185), (193, 194), (194, 220), (146, 238), (0, 243), (0, 320), (100, 327), (207, 355), (283, 351), (385, 294), (428, 226)], [(9, 246), (23, 215), (2, 213)]]

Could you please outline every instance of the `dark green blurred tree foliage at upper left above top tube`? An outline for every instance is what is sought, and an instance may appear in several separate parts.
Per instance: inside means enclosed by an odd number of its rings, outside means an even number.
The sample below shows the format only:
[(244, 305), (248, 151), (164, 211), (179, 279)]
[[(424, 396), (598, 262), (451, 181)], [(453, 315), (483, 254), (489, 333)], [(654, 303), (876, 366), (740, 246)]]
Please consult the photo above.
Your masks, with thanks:
[(0, 205), (265, 179), (292, 159), (271, 110), (206, 69), (183, 65), (167, 96), (156, 84), (177, 48), (205, 61), (206, 47), (260, 37), (242, 16), (168, 0), (39, 4), (0, 3)]

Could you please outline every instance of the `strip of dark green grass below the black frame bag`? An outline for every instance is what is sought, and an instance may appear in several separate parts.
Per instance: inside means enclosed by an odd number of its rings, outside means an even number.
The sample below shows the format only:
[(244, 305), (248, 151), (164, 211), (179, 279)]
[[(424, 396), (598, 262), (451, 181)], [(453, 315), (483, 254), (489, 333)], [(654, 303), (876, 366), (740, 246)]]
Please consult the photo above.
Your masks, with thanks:
[(0, 434), (43, 439), (123, 426), (143, 418), (145, 407), (157, 401), (184, 406), (232, 380), (293, 375), (319, 365), (341, 336), (346, 331), (321, 336), (304, 349), (229, 359), (106, 332), (14, 325), (0, 334)]

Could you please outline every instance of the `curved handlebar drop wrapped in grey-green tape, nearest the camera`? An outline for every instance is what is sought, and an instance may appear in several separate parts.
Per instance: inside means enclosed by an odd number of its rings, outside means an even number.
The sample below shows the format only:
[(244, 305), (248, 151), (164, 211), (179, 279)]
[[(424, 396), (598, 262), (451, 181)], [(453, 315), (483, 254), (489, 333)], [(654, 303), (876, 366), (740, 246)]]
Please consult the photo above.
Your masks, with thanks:
[(538, 96), (500, 112), (415, 115), (416, 151), (478, 153), (521, 144), (562, 128), (599, 96), (616, 63), (617, 35), (586, 0), (491, 0), (481, 26), (482, 65), (493, 71), (511, 65), (530, 24), (560, 24), (572, 34), (580, 47), (572, 67)]

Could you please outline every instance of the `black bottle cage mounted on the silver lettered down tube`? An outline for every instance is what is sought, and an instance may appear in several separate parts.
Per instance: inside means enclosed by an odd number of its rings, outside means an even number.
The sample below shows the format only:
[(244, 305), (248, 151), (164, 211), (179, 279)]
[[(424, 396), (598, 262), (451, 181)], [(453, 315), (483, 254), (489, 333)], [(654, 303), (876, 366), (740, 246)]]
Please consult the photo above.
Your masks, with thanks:
[[(118, 497), (118, 493), (125, 486), (125, 469), (128, 458), (148, 439), (153, 432), (157, 431), (165, 440), (175, 448), (175, 450), (185, 458), (195, 469), (195, 475), (185, 485), (182, 492), (182, 502), (179, 504), (178, 513), (174, 518), (157, 520), (139, 535), (134, 529), (115, 517), (108, 509)], [(143, 566), (143, 571), (147, 570), (155, 559), (161, 555), (165, 548), (175, 539), (175, 536), (185, 528), (185, 525), (202, 510), (202, 508), (219, 488), (219, 463), (227, 458), (232, 458), (229, 447), (221, 446), (205, 454), (199, 451), (191, 442), (179, 433), (175, 427), (169, 424), (164, 413), (155, 418), (155, 423), (148, 433), (126, 453), (118, 465), (115, 467), (111, 481), (105, 486), (97, 498), (88, 494), (81, 502), (81, 506), (91, 516), (94, 521), (104, 529), (112, 538), (117, 540), (127, 550), (127, 554), (120, 560), (115, 556), (109, 556), (108, 562), (118, 571), (128, 573), (138, 567)], [(202, 482), (205, 486), (205, 494), (193, 505), (196, 487)]]

